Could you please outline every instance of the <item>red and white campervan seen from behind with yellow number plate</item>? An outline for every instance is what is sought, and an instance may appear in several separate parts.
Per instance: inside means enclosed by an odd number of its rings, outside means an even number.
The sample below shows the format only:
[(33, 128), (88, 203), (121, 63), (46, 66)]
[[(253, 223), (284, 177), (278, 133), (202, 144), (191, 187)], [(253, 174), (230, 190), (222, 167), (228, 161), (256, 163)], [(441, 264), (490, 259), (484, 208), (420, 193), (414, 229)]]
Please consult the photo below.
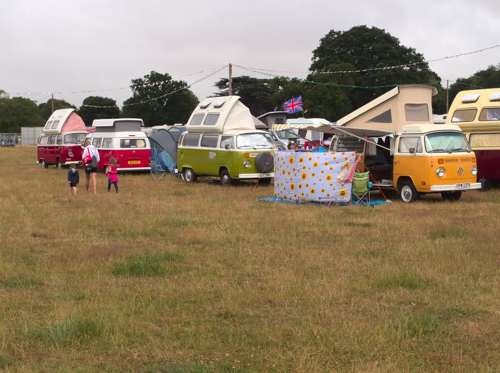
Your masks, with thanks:
[(95, 131), (86, 138), (99, 151), (98, 168), (103, 170), (113, 156), (118, 171), (150, 170), (151, 147), (146, 133), (141, 131), (143, 125), (142, 119), (95, 119)]

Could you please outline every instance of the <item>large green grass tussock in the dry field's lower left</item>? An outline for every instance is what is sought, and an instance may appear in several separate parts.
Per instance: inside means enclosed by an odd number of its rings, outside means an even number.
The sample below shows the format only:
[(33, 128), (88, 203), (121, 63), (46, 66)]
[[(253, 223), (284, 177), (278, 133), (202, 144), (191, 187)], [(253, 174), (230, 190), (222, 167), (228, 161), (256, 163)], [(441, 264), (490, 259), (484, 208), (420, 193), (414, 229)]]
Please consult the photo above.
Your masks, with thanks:
[(84, 344), (99, 338), (106, 330), (103, 321), (72, 317), (61, 322), (39, 327), (35, 338), (45, 345), (65, 347)]

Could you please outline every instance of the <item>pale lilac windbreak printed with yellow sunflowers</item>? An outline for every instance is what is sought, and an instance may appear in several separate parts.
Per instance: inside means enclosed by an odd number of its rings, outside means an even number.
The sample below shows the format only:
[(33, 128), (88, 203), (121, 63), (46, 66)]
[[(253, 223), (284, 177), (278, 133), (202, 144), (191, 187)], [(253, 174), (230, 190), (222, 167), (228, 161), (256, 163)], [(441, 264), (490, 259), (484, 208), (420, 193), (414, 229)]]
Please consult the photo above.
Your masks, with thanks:
[(353, 152), (314, 153), (274, 151), (274, 196), (313, 201), (348, 201), (345, 183)]

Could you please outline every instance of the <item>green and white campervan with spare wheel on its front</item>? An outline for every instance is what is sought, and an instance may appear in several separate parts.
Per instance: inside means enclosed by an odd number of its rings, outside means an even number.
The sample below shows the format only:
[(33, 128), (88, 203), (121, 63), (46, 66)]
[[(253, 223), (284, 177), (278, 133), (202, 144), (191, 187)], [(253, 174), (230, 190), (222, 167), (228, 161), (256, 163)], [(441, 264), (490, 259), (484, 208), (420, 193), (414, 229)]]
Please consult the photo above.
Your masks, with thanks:
[(180, 135), (177, 168), (187, 182), (218, 176), (222, 185), (274, 176), (272, 135), (255, 129), (248, 107), (238, 96), (209, 97), (200, 102)]

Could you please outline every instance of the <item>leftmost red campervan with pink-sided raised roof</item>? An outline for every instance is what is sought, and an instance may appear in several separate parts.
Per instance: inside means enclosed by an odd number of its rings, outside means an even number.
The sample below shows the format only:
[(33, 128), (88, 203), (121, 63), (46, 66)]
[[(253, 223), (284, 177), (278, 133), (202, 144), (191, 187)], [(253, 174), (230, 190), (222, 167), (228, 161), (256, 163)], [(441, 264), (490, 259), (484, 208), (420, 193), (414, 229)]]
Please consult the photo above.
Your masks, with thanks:
[(64, 164), (81, 164), (81, 144), (86, 135), (85, 123), (74, 109), (55, 110), (38, 136), (36, 162), (41, 168), (49, 164), (57, 168)]

